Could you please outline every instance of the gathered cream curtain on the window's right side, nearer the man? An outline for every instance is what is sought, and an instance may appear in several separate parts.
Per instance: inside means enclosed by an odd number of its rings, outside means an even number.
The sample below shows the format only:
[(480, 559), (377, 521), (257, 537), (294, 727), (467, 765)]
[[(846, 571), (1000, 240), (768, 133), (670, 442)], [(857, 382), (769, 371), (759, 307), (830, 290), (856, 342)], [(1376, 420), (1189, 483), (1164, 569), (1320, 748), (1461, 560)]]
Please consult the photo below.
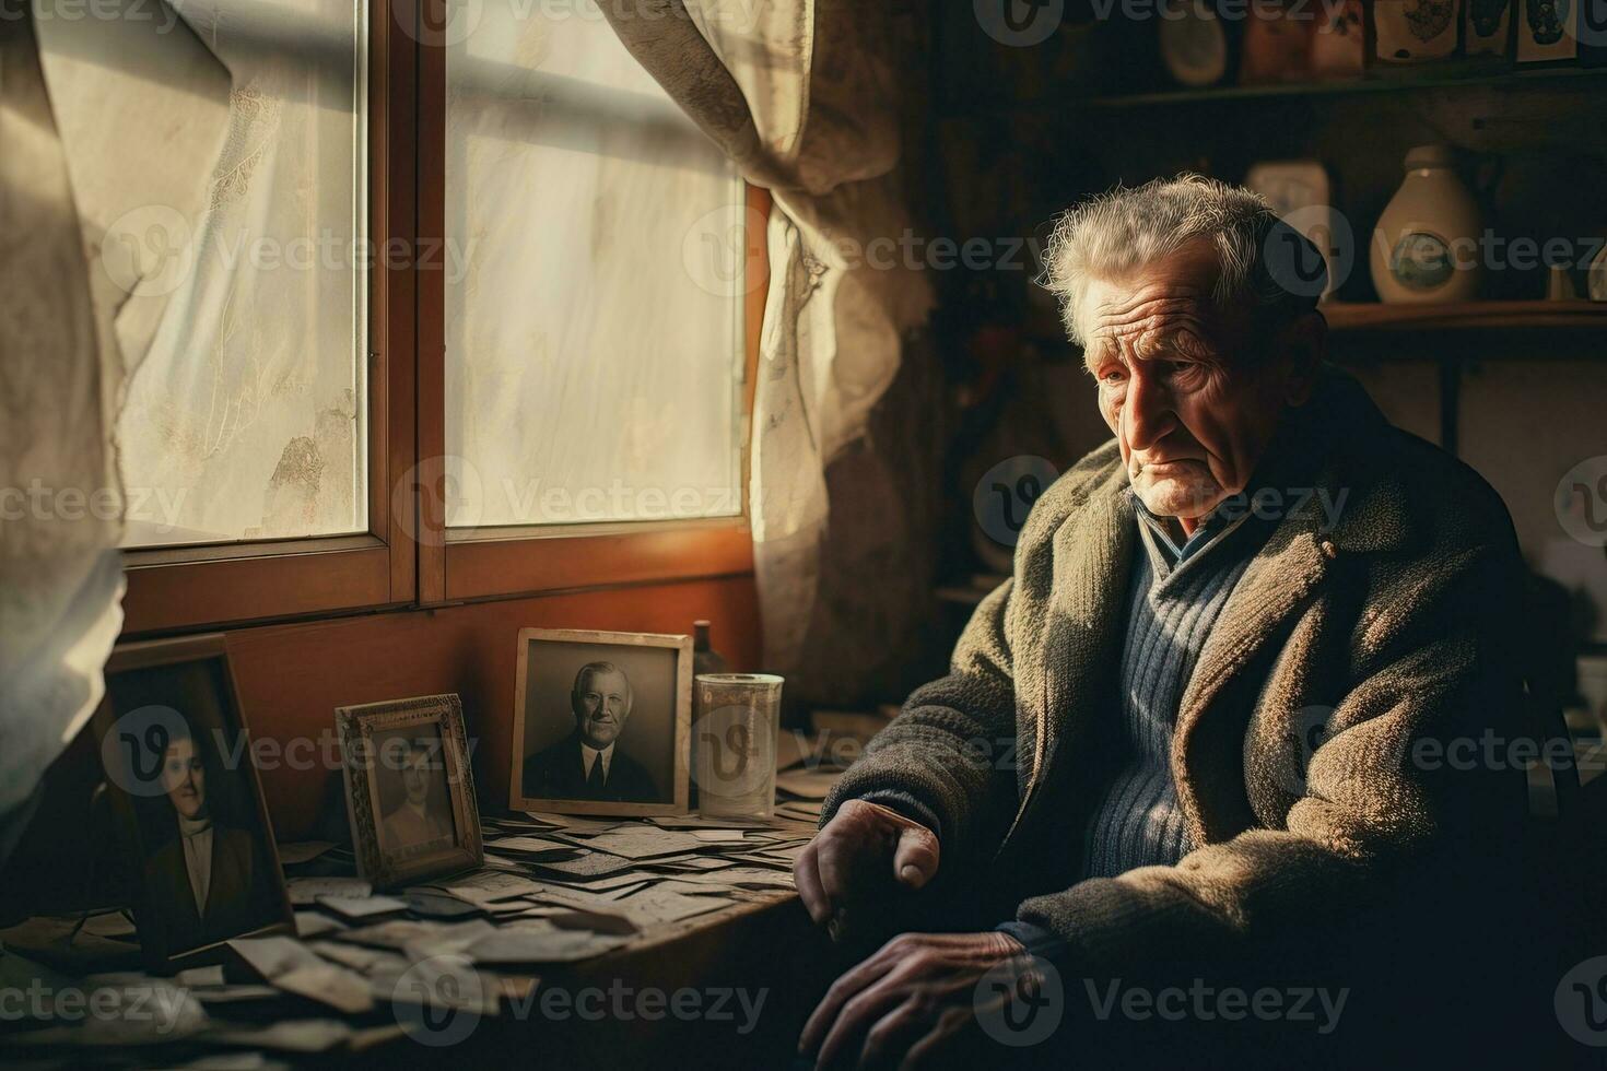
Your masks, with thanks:
[(767, 668), (795, 671), (829, 520), (826, 466), (865, 434), (932, 305), (911, 265), (866, 257), (908, 217), (898, 75), (881, 5), (601, 5), (632, 55), (775, 196), (754, 403), (754, 554)]

